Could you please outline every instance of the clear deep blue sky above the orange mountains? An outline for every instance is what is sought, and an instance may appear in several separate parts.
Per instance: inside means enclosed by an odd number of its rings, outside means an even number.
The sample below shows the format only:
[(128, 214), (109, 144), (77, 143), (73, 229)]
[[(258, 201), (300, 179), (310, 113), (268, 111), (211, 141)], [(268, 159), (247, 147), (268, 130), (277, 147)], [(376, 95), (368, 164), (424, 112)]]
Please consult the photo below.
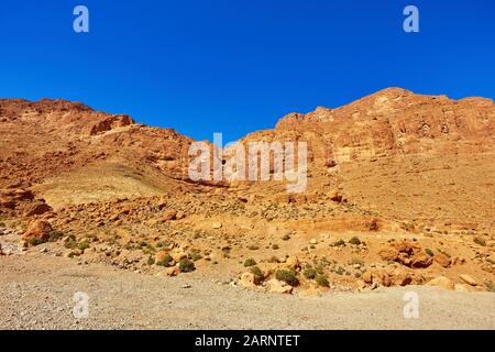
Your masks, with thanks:
[[(90, 33), (73, 10), (90, 11)], [(403, 31), (403, 9), (420, 33)], [(386, 87), (495, 98), (494, 0), (2, 0), (0, 97), (224, 142)]]

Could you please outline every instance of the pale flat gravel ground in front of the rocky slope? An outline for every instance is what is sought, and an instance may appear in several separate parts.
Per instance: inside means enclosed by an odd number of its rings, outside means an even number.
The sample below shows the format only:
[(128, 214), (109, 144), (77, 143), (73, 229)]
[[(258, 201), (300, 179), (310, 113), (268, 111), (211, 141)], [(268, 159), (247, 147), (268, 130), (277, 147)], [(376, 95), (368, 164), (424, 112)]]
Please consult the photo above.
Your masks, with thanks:
[[(77, 292), (89, 296), (88, 318), (74, 318)], [(418, 319), (404, 318), (407, 292), (419, 295)], [(495, 294), (283, 296), (30, 253), (0, 256), (0, 329), (495, 329)]]

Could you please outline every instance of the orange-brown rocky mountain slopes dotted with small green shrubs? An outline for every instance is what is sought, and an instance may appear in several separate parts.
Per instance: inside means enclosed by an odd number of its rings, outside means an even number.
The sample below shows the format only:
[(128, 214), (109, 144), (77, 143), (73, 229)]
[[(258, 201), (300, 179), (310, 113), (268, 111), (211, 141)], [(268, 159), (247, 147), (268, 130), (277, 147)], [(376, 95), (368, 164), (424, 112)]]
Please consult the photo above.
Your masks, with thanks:
[[(428, 285), (459, 292), (452, 302), (472, 295), (493, 304), (494, 131), (490, 99), (399, 88), (290, 113), (240, 141), (308, 143), (308, 187), (288, 194), (276, 180), (190, 180), (194, 141), (172, 129), (78, 102), (0, 99), (0, 267), (14, 271), (1, 276), (2, 289), (22, 292), (12, 284), (28, 279), (28, 264), (33, 273), (51, 265), (58, 279), (68, 261), (77, 275), (98, 267), (97, 282), (146, 280), (151, 297), (160, 283), (180, 293), (173, 283), (191, 280), (213, 300), (216, 289), (240, 286), (246, 297), (334, 305), (337, 294), (361, 293), (339, 296), (356, 302), (388, 297), (373, 295), (384, 287)], [(486, 311), (459, 321), (469, 327)]]

